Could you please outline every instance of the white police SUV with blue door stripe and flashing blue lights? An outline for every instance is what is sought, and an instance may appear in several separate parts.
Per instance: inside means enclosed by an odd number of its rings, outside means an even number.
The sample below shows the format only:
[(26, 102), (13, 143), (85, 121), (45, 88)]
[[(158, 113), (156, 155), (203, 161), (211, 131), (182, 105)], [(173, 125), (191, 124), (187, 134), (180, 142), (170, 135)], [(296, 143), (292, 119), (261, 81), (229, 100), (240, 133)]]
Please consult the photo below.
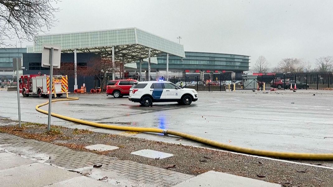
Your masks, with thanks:
[(168, 81), (144, 81), (132, 86), (128, 99), (143, 106), (150, 106), (154, 102), (189, 105), (198, 100), (198, 93), (194, 89), (181, 88)]

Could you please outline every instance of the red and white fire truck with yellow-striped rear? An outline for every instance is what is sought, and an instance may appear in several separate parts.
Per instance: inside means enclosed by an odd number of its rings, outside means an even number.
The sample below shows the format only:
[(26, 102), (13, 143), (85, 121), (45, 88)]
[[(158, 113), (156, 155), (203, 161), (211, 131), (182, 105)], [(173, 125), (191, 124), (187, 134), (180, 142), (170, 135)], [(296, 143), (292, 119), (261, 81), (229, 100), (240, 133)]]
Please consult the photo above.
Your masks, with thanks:
[[(68, 77), (67, 75), (53, 75), (54, 85), (52, 87), (52, 94), (57, 97), (66, 94), (68, 91)], [(29, 95), (38, 95), (39, 97), (48, 97), (50, 94), (50, 76), (41, 74), (22, 75), (19, 79), (20, 93), (23, 97)]]

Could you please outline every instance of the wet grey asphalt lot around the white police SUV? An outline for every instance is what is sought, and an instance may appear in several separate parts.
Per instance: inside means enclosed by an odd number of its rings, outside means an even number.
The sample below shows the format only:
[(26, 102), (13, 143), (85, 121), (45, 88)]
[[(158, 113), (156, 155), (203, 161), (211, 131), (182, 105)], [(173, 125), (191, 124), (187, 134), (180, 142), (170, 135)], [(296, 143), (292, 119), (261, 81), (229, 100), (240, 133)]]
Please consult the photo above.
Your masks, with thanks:
[[(115, 99), (106, 94), (75, 96), (80, 99), (53, 103), (52, 112), (107, 124), (172, 129), (248, 148), (333, 152), (333, 91), (199, 92), (199, 100), (189, 106), (154, 103), (152, 107), (141, 107), (127, 97)], [(0, 99), (0, 117), (17, 120), (16, 92), (0, 90)], [(37, 104), (47, 99), (21, 96), (20, 100), (22, 121), (47, 123), (47, 115), (35, 110)], [(42, 109), (48, 108), (44, 106)], [(97, 129), (54, 117), (52, 124), (202, 146), (176, 137)]]

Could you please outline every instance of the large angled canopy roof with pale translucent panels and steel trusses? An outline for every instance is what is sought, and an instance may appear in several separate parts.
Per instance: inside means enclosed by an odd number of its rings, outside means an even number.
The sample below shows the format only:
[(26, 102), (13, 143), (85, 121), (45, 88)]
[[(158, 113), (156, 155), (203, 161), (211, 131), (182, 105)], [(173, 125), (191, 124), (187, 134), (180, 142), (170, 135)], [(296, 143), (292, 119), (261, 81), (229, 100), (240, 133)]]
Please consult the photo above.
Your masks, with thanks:
[(136, 62), (162, 53), (185, 57), (184, 47), (176, 42), (166, 40), (157, 35), (138, 28), (114, 29), (91, 32), (40, 35), (35, 37), (33, 49), (28, 51), (41, 52), (43, 44), (60, 45), (61, 51), (98, 53), (103, 58), (112, 58), (114, 47), (115, 61), (124, 63)]

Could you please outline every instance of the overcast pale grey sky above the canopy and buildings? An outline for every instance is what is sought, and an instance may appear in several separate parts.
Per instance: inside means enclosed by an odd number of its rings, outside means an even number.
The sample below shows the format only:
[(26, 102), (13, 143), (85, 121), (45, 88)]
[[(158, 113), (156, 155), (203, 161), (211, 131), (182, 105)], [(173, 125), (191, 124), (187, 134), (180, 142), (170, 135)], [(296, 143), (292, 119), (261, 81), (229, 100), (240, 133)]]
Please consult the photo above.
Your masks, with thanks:
[(178, 42), (185, 51), (264, 55), (314, 65), (333, 55), (333, 1), (62, 0), (51, 34), (137, 27)]

